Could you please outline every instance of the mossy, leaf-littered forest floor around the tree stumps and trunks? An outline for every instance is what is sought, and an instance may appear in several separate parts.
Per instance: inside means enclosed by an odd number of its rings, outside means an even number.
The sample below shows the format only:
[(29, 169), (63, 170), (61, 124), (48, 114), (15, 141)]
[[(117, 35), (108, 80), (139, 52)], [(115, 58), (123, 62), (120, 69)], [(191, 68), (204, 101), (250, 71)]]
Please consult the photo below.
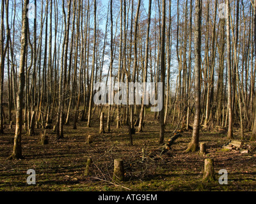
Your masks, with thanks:
[[(48, 145), (40, 145), (42, 129), (34, 136), (22, 135), (22, 154), (25, 159), (8, 161), (13, 144), (13, 129), (5, 129), (0, 136), (0, 191), (256, 191), (256, 152), (241, 154), (236, 150), (223, 150), (227, 133), (202, 132), (200, 142), (207, 145), (207, 154), (184, 153), (191, 140), (191, 132), (182, 133), (168, 154), (155, 154), (159, 148), (157, 120), (145, 120), (143, 133), (133, 136), (130, 145), (127, 126), (110, 133), (99, 134), (99, 121), (93, 120), (92, 128), (79, 122), (77, 129), (65, 126), (65, 138), (56, 140), (56, 134), (47, 130)], [(166, 126), (165, 141), (175, 128)], [(88, 135), (93, 143), (86, 144)], [(239, 139), (239, 132), (234, 133)], [(246, 142), (250, 133), (245, 133)], [(256, 145), (256, 143), (251, 143)], [(145, 159), (142, 161), (142, 149)], [(92, 158), (91, 174), (84, 176), (88, 157)], [(124, 160), (125, 181), (114, 182), (113, 161)], [(204, 159), (214, 159), (216, 180), (202, 182)], [(36, 171), (36, 185), (28, 185), (27, 171)], [(220, 185), (218, 171), (228, 171), (228, 184)]]

